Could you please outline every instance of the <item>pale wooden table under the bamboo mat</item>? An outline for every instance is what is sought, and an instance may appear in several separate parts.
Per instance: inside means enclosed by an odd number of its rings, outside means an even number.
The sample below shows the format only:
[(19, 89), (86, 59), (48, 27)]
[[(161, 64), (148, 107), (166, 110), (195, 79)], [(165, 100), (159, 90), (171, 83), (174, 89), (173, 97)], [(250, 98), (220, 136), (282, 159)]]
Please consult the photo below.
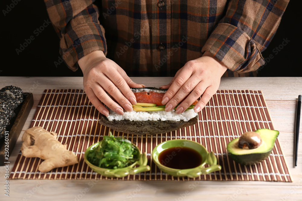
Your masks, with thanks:
[[(170, 77), (133, 77), (136, 83), (159, 87)], [(83, 89), (82, 77), (0, 77), (0, 88), (19, 86), (34, 94), (34, 106), (13, 153), (9, 171), (21, 147), (21, 136), (33, 119), (44, 89)], [(302, 200), (302, 137), (298, 166), (294, 168), (294, 127), (301, 77), (222, 78), (219, 89), (262, 90), (283, 154), (294, 182), (264, 181), (105, 181), (105, 180), (9, 180), (4, 196), (5, 168), (0, 167), (0, 200)], [(301, 122), (302, 124), (302, 122)], [(302, 128), (302, 125), (300, 125)], [(300, 130), (302, 136), (302, 129)]]

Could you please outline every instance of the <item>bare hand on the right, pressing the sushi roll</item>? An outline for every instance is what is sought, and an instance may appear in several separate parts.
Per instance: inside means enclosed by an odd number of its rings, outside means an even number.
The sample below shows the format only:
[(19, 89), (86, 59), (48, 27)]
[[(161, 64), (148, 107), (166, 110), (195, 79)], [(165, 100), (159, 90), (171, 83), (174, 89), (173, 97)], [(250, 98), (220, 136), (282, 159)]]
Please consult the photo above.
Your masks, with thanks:
[[(180, 114), (200, 96), (194, 111), (201, 111), (218, 90), (220, 78), (226, 70), (227, 67), (210, 52), (204, 52), (202, 57), (188, 61), (168, 85), (160, 87), (169, 88), (162, 99), (162, 104), (166, 105), (165, 111), (171, 111), (183, 100), (176, 109), (176, 113)], [(188, 97), (185, 99), (186, 96)]]

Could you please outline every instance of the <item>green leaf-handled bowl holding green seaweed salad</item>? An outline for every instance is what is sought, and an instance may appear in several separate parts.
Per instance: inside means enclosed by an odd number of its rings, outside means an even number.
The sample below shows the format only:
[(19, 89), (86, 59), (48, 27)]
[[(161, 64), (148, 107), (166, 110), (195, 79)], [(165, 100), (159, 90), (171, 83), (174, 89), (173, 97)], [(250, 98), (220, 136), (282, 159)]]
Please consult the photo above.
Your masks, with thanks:
[[(138, 158), (139, 160), (134, 162), (132, 165), (129, 165), (125, 168), (119, 168), (119, 169), (106, 169), (106, 168), (100, 168), (98, 166), (95, 166), (93, 164), (91, 164), (88, 159), (87, 156), (89, 155), (90, 152), (93, 151), (93, 148), (98, 146), (102, 141), (99, 141), (91, 146), (88, 147), (88, 149), (86, 149), (85, 151), (85, 155), (84, 155), (84, 161), (87, 163), (87, 165), (95, 172), (97, 172), (98, 174), (101, 174), (105, 177), (125, 177), (128, 174), (137, 174), (140, 172), (145, 172), (145, 171), (149, 171), (150, 170), (150, 166), (147, 165), (148, 159), (146, 156), (146, 153), (141, 154), (140, 153), (140, 149), (137, 148), (137, 146), (135, 146), (135, 148), (138, 150), (138, 155), (136, 156), (136, 158)], [(135, 167), (139, 165), (139, 167)]]

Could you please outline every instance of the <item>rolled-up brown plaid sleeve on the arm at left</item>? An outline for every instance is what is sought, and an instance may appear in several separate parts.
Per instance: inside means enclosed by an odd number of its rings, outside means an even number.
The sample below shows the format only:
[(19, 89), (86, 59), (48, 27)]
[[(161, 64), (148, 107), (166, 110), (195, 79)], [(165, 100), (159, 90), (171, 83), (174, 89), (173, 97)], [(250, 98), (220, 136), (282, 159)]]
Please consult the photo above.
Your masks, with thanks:
[(73, 71), (78, 68), (77, 61), (90, 52), (107, 53), (105, 31), (93, 2), (45, 0), (48, 15), (60, 38), (60, 54)]

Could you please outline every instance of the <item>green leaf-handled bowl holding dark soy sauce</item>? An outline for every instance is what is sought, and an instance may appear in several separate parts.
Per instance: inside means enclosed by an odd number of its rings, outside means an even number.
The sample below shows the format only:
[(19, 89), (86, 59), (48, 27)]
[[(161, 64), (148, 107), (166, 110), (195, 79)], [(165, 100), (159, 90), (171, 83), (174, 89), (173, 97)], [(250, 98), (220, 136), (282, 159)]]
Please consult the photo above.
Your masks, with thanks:
[[(201, 165), (199, 165), (196, 168), (190, 168), (190, 169), (174, 169), (174, 168), (168, 168), (168, 167), (162, 165), (158, 159), (159, 153), (164, 151), (165, 149), (169, 149), (172, 147), (175, 147), (175, 148), (176, 147), (188, 147), (188, 148), (196, 150), (198, 153), (200, 153), (200, 155), (202, 157)], [(180, 150), (180, 149), (175, 149), (175, 150)], [(161, 169), (163, 172), (168, 173), (174, 177), (187, 176), (187, 177), (195, 178), (201, 174), (209, 174), (210, 172), (221, 170), (221, 166), (217, 165), (217, 158), (214, 155), (214, 152), (209, 153), (204, 146), (202, 146), (201, 144), (199, 144), (197, 142), (191, 141), (191, 140), (178, 139), (178, 140), (168, 140), (163, 143), (160, 143), (153, 149), (152, 158), (153, 158), (154, 163), (157, 165), (157, 167), (159, 167), (159, 169)], [(206, 165), (206, 164), (209, 165), (207, 168), (204, 167), (204, 165)]]

